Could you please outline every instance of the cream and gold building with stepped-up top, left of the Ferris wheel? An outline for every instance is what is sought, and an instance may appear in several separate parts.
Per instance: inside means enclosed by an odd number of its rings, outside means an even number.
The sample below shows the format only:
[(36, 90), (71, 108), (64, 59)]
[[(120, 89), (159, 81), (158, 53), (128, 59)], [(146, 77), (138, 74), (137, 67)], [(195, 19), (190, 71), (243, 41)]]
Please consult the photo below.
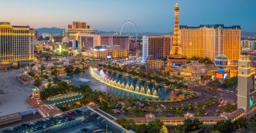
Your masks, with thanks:
[(72, 25), (68, 25), (66, 31), (66, 37), (69, 40), (75, 40), (77, 33), (94, 34), (94, 29), (89, 29), (89, 26), (85, 22), (74, 21)]

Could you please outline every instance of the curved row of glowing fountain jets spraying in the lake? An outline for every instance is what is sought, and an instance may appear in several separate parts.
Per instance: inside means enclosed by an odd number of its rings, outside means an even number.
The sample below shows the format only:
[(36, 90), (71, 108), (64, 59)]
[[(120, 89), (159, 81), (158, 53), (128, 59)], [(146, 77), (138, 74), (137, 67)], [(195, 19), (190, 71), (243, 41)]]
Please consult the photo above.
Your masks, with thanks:
[(106, 85), (110, 85), (112, 87), (115, 87), (117, 89), (122, 89), (124, 91), (129, 91), (131, 93), (137, 93), (137, 94), (140, 94), (140, 95), (146, 95), (146, 96), (149, 96), (149, 97), (159, 98), (159, 96), (157, 95), (157, 92), (156, 92), (156, 90), (154, 90), (154, 88), (152, 89), (152, 93), (151, 93), (149, 88), (147, 88), (147, 92), (145, 93), (145, 89), (142, 86), (141, 86), (141, 89), (140, 89), (138, 87), (138, 85), (136, 85), (136, 87), (134, 89), (132, 84), (130, 86), (128, 85), (128, 83), (126, 83), (126, 85), (124, 85), (124, 82), (122, 84), (120, 84), (120, 81), (116, 82), (114, 79), (104, 78), (102, 76), (99, 76), (91, 68), (89, 68), (89, 71), (91, 73), (91, 76), (93, 76), (97, 80), (100, 80), (102, 83), (105, 83)]

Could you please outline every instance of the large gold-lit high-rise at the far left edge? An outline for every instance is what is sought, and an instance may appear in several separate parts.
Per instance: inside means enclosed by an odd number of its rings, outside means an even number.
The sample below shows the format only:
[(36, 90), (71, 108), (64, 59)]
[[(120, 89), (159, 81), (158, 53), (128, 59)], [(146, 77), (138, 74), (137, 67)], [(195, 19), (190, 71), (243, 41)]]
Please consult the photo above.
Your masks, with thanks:
[(37, 42), (37, 31), (29, 26), (14, 26), (0, 23), (0, 68), (33, 63), (33, 45)]

